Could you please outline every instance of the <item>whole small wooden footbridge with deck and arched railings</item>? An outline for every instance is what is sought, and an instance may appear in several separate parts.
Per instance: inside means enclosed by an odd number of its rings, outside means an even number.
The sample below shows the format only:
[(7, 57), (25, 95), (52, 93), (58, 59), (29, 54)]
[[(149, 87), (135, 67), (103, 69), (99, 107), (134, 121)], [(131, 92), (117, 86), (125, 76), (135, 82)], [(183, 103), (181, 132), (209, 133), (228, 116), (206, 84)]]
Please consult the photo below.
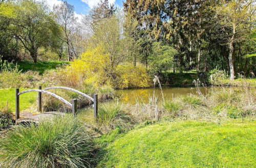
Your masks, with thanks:
[[(41, 120), (44, 120), (46, 118), (51, 118), (56, 115), (62, 115), (62, 116), (65, 115), (65, 113), (61, 113), (59, 111), (48, 111), (45, 113), (41, 113), (42, 112), (42, 93), (51, 95), (51, 96), (57, 98), (58, 100), (62, 101), (63, 103), (67, 104), (69, 107), (72, 108), (72, 113), (75, 115), (77, 113), (77, 99), (72, 99), (72, 102), (70, 103), (69, 101), (63, 99), (62, 97), (60, 97), (52, 92), (47, 91), (47, 90), (52, 90), (52, 89), (69, 90), (69, 91), (78, 93), (78, 94), (82, 95), (83, 97), (89, 99), (93, 103), (94, 117), (97, 118), (97, 115), (98, 115), (98, 95), (97, 94), (95, 94), (94, 98), (92, 98), (92, 97), (88, 96), (87, 94), (84, 94), (78, 90), (68, 88), (68, 87), (50, 87), (50, 88), (42, 89), (42, 87), (39, 86), (38, 89), (31, 89), (31, 90), (26, 90), (26, 91), (22, 91), (22, 92), (19, 92), (18, 88), (15, 89), (15, 121), (16, 121), (16, 124), (26, 123), (26, 122), (38, 123)], [(37, 103), (38, 103), (38, 111), (40, 112), (40, 114), (25, 117), (25, 118), (20, 118), (19, 117), (19, 96), (22, 94), (28, 93), (28, 92), (38, 92)]]

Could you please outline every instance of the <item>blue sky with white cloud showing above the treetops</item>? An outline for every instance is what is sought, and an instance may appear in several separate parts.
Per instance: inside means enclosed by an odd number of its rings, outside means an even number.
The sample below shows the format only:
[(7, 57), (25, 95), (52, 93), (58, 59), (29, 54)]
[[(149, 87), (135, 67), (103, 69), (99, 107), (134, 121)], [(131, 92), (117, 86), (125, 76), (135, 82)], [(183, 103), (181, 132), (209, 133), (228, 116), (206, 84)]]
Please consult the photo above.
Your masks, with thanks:
[[(58, 5), (60, 0), (46, 0), (48, 4), (52, 7), (53, 5)], [(110, 3), (114, 3), (116, 6), (122, 7), (123, 1), (125, 0), (109, 0)], [(67, 0), (71, 5), (74, 5), (76, 14), (86, 14), (93, 8), (100, 0)]]

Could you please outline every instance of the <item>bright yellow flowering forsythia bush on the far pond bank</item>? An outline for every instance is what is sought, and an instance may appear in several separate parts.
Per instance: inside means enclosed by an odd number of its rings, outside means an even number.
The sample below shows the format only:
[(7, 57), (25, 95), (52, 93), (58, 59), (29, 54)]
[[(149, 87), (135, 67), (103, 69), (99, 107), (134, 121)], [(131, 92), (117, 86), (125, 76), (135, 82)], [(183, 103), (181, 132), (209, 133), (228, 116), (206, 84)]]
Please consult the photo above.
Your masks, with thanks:
[(100, 45), (88, 49), (81, 55), (81, 59), (74, 60), (59, 73), (61, 84), (74, 88), (82, 85), (108, 85), (120, 89), (143, 88), (150, 87), (152, 83), (144, 67), (113, 66), (110, 55)]

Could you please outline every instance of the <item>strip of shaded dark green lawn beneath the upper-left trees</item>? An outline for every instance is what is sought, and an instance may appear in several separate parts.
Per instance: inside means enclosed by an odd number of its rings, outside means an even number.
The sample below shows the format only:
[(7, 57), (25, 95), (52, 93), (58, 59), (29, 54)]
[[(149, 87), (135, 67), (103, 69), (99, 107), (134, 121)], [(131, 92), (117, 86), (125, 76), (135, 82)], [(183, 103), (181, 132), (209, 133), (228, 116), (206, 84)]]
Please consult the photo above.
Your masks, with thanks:
[(38, 61), (37, 63), (32, 63), (28, 61), (22, 61), (17, 63), (19, 65), (19, 69), (22, 72), (26, 72), (28, 70), (38, 71), (39, 74), (43, 74), (46, 70), (56, 69), (63, 64), (69, 64), (69, 62), (65, 61)]

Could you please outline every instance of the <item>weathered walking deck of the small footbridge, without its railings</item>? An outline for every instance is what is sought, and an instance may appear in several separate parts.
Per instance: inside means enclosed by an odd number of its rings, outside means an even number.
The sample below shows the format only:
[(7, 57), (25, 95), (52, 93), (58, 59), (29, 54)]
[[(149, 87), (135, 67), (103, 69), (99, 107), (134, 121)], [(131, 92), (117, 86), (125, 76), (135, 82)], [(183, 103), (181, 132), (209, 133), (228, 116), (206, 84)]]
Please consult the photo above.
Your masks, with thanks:
[(22, 123), (22, 122), (39, 123), (42, 120), (53, 118), (56, 115), (64, 116), (65, 114), (66, 113), (61, 113), (61, 112), (57, 112), (57, 111), (49, 111), (49, 112), (41, 113), (38, 115), (29, 116), (26, 118), (19, 118), (16, 120), (16, 124)]

